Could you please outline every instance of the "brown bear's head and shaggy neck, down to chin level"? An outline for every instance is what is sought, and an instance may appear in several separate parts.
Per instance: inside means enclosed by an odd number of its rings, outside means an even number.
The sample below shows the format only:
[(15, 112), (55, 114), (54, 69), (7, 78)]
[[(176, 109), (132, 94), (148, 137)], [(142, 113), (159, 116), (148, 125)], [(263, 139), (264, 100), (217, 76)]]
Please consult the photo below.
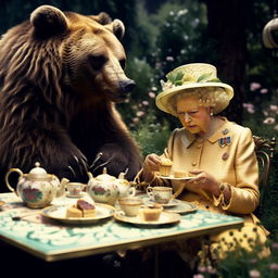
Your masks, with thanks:
[(135, 87), (124, 73), (124, 24), (105, 13), (81, 15), (41, 5), (0, 41), (2, 91), (40, 90), (52, 104), (65, 93), (84, 102), (121, 102)]

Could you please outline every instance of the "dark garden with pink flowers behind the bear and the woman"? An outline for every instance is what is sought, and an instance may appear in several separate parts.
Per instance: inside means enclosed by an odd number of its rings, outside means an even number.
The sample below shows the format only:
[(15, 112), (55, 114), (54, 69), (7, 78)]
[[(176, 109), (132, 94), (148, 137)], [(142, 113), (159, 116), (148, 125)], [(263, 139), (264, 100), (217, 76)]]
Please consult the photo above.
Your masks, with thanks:
[[(235, 88), (233, 101), (225, 116), (250, 127), (254, 135), (278, 138), (278, 50), (266, 49), (262, 43), (262, 30), (274, 17), (277, 1), (1, 0), (0, 34), (28, 20), (31, 11), (40, 4), (84, 14), (105, 11), (124, 22), (126, 73), (137, 87), (129, 100), (117, 108), (143, 156), (150, 152), (160, 154), (170, 131), (179, 126), (174, 117), (155, 108), (160, 80), (176, 66), (194, 62), (216, 65), (219, 78)], [(229, 260), (223, 265), (222, 275), (225, 267), (233, 267), (231, 277), (260, 277), (252, 276), (252, 270), (257, 270), (261, 277), (278, 277), (275, 269), (278, 267), (275, 265), (278, 260), (277, 200), (276, 151), (261, 217), (271, 232), (273, 256), (261, 260), (260, 264), (257, 257)], [(256, 262), (252, 264), (252, 260)], [(202, 275), (210, 276), (208, 273)]]

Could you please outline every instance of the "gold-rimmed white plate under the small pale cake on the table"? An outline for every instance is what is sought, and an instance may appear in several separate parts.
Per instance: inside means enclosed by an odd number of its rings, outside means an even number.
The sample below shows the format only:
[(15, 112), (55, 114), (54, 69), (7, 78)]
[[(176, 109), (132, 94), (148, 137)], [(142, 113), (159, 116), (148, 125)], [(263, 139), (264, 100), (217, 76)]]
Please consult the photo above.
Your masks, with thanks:
[(156, 222), (146, 222), (139, 215), (138, 216), (126, 216), (124, 212), (117, 211), (114, 214), (115, 219), (124, 223), (130, 223), (139, 226), (157, 226), (165, 224), (178, 223), (180, 220), (180, 215), (170, 212), (162, 212), (161, 217)]

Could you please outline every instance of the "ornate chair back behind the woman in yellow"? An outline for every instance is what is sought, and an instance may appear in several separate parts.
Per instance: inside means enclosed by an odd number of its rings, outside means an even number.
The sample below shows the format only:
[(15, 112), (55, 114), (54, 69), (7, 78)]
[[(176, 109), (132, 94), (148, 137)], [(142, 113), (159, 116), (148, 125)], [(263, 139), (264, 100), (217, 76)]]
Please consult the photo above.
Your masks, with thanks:
[(260, 205), (255, 214), (260, 215), (263, 208), (265, 192), (268, 190), (269, 187), (269, 174), (275, 152), (276, 138), (269, 140), (258, 136), (253, 136), (253, 139), (255, 142), (255, 152), (260, 169), (258, 188), (261, 191)]

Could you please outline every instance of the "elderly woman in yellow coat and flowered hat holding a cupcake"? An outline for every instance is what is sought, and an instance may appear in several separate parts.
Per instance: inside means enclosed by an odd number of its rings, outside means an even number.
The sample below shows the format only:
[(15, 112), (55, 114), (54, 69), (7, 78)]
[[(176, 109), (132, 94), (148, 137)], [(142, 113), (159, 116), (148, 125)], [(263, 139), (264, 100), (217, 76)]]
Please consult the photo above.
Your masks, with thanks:
[[(228, 243), (235, 245), (235, 239), (248, 250), (250, 240), (265, 242), (268, 232), (256, 226), (258, 219), (252, 214), (260, 202), (252, 132), (215, 115), (229, 104), (232, 88), (220, 83), (213, 65), (202, 63), (175, 68), (162, 85), (156, 105), (178, 117), (182, 128), (173, 131), (161, 156), (147, 155), (140, 180), (151, 186), (170, 186), (176, 197), (194, 202), (200, 208), (243, 217), (241, 231), (213, 237), (222, 250), (230, 248)], [(180, 181), (156, 177), (163, 157), (172, 160), (174, 173), (187, 173), (193, 178)], [(267, 254), (268, 250), (263, 249), (262, 255)]]

